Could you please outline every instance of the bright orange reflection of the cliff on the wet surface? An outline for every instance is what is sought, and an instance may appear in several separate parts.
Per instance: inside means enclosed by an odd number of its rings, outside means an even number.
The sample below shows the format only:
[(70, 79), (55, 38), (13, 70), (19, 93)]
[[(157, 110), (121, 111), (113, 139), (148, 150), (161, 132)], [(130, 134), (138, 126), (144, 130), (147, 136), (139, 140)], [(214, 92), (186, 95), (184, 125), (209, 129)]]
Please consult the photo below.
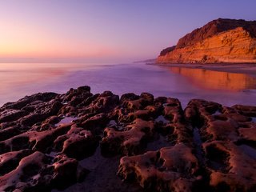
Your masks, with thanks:
[(190, 78), (190, 82), (206, 89), (250, 90), (256, 89), (256, 78), (246, 74), (234, 74), (214, 70), (170, 67), (175, 74)]

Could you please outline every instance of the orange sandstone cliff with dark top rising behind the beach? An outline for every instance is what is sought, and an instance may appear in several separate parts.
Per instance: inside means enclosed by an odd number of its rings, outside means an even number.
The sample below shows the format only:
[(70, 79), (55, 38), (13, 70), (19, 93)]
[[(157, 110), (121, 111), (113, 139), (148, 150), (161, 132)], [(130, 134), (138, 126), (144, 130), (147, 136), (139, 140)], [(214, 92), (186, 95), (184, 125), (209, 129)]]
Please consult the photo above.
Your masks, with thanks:
[(214, 20), (162, 50), (157, 62), (256, 62), (256, 22)]

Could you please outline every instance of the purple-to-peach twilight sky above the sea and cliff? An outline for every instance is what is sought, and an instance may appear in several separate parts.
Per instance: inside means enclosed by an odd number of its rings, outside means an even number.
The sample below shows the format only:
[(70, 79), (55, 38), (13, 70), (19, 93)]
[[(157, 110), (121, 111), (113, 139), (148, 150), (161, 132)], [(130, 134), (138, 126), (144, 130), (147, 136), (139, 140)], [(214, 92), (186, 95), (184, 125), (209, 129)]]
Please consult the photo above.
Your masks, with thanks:
[(2, 0), (0, 62), (156, 58), (211, 20), (256, 20), (255, 7), (255, 0)]

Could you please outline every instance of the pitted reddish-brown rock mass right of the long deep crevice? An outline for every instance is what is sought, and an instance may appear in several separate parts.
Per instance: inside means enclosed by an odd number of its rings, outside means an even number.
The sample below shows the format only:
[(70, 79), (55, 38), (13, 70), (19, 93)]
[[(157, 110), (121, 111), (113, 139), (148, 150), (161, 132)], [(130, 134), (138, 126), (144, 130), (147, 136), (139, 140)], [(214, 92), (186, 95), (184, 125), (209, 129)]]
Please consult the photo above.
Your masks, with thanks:
[(192, 100), (186, 107), (187, 121), (197, 122), (194, 126), (199, 128), (205, 154), (202, 163), (210, 171), (211, 190), (254, 190), (256, 126), (244, 116), (252, 111), (252, 106), (222, 107), (203, 100)]

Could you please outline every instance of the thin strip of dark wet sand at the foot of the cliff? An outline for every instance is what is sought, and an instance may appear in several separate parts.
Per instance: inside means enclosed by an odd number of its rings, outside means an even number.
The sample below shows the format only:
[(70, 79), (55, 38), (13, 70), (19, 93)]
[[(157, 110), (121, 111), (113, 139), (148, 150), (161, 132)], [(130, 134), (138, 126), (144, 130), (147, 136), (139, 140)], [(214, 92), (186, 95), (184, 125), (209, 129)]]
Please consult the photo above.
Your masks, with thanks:
[(209, 64), (200, 64), (200, 63), (146, 63), (146, 65), (153, 66), (170, 66), (170, 67), (184, 67), (191, 69), (204, 69), (204, 70), (214, 70), (227, 73), (235, 74), (249, 74), (256, 77), (256, 63), (209, 63)]

